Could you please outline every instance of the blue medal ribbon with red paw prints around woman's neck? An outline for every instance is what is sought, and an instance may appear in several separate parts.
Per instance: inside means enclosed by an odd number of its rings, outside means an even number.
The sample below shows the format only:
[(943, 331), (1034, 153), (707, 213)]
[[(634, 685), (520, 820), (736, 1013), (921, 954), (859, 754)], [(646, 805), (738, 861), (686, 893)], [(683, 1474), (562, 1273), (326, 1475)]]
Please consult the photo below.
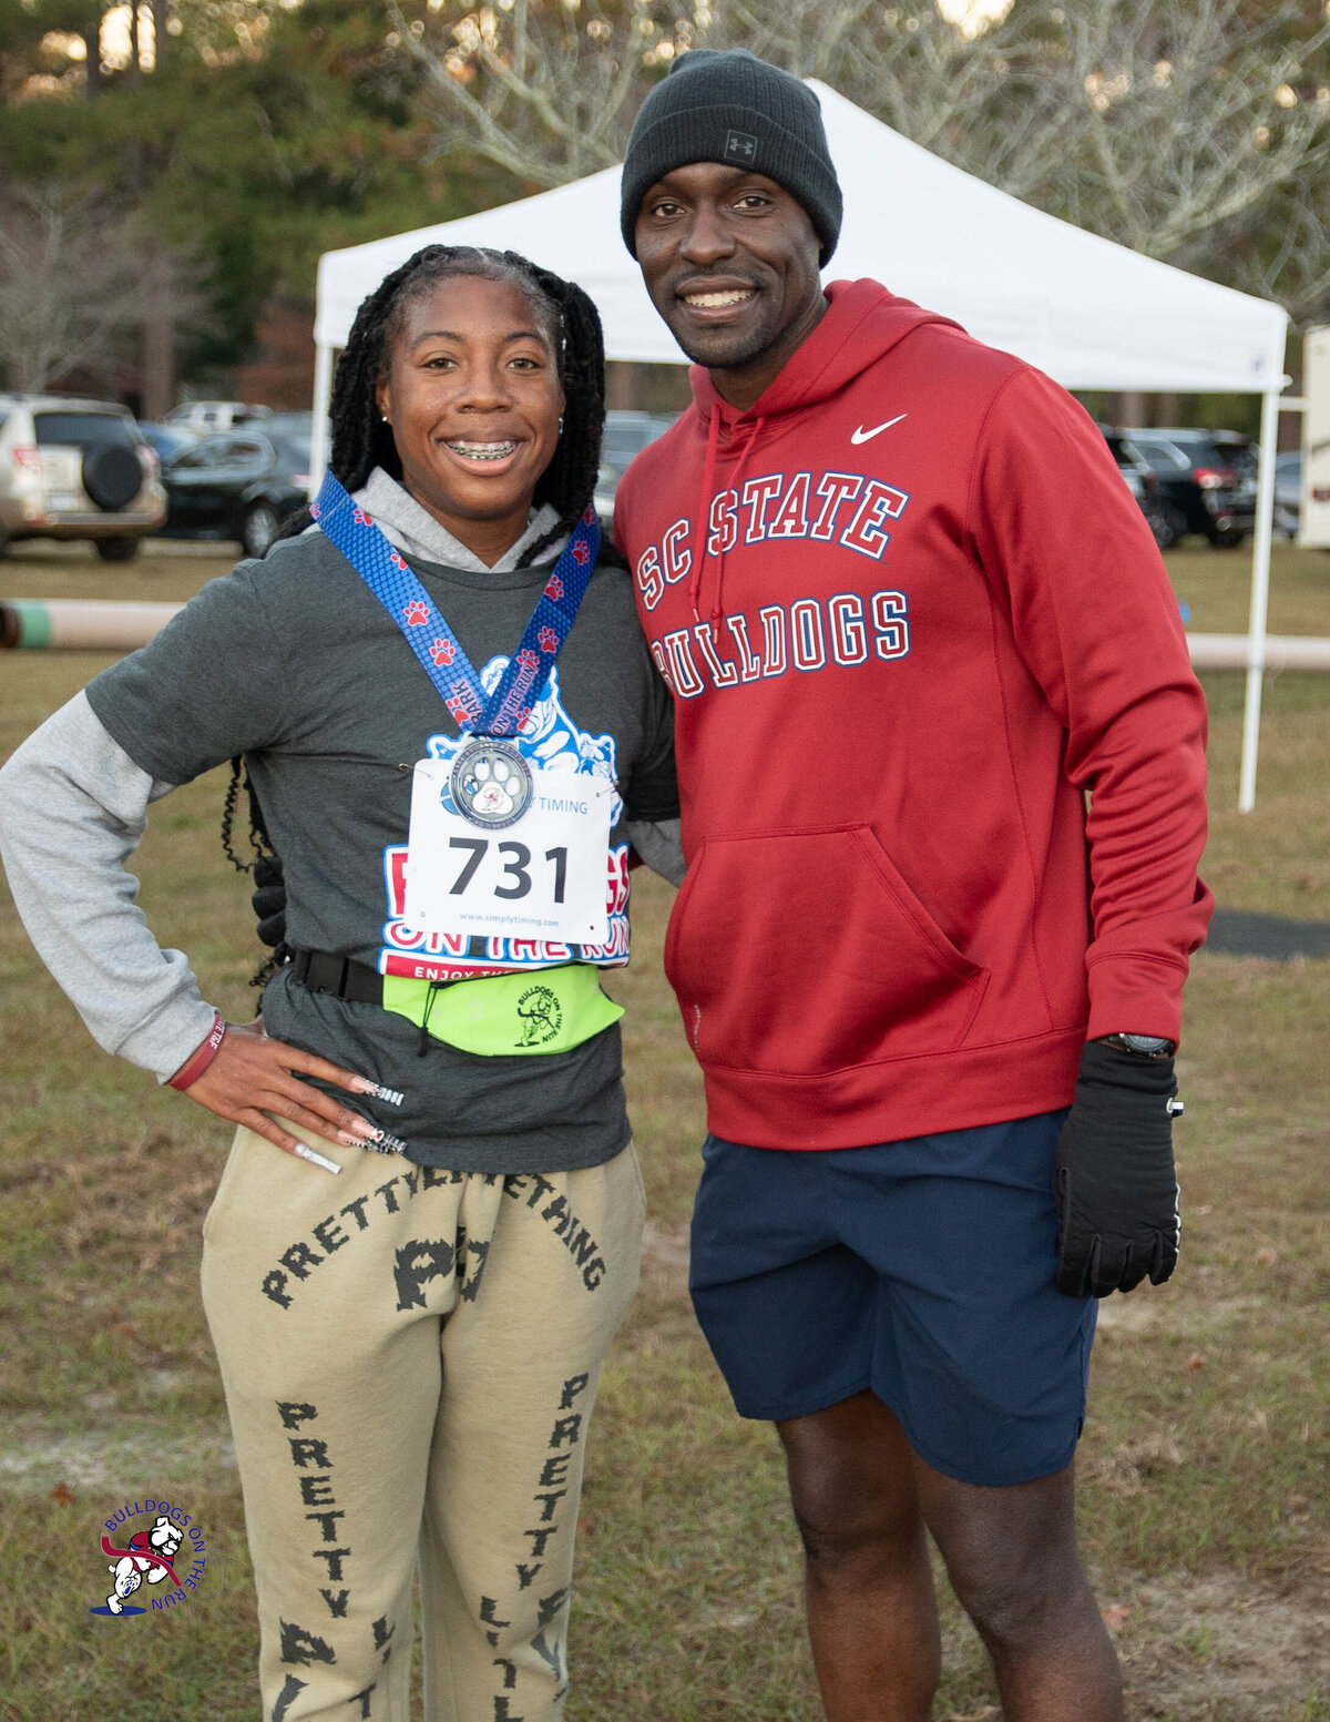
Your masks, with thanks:
[(461, 641), (406, 558), (330, 472), (310, 513), (403, 630), (458, 728), (470, 735), (516, 735), (545, 691), (549, 672), (587, 594), (600, 549), (595, 510), (587, 508), (578, 520), (492, 694), (485, 694)]

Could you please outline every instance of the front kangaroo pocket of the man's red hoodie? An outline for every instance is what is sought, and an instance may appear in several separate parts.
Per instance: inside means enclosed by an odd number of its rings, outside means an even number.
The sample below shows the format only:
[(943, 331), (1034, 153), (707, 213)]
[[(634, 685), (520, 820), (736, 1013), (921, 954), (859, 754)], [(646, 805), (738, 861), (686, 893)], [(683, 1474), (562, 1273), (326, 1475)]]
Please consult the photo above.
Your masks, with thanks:
[(664, 963), (702, 1064), (790, 1076), (951, 1052), (988, 985), (867, 825), (705, 842)]

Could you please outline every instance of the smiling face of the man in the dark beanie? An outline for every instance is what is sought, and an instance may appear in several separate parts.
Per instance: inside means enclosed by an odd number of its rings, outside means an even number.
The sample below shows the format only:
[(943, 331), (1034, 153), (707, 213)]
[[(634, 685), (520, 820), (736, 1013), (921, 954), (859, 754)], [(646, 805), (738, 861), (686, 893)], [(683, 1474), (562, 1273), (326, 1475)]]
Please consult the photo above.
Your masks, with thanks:
[(821, 239), (764, 174), (676, 167), (642, 200), (633, 239), (652, 305), (733, 406), (752, 406), (826, 310)]

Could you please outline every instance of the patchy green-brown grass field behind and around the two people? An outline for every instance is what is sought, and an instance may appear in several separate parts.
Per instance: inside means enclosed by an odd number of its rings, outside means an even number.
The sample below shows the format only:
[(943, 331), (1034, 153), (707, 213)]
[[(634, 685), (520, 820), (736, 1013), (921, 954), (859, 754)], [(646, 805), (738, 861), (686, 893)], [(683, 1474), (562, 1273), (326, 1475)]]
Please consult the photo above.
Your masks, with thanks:
[[(19, 549), (0, 596), (184, 598), (215, 554), (131, 568)], [(1170, 558), (1192, 625), (1246, 625), (1246, 556)], [(1330, 634), (1330, 556), (1277, 548), (1275, 632)], [(0, 754), (103, 660), (0, 660)], [(1330, 920), (1330, 680), (1272, 677), (1254, 815), (1234, 811), (1241, 677), (1206, 682), (1213, 839), (1228, 907)], [(255, 1000), (220, 780), (172, 796), (143, 904), (231, 1016)], [(800, 1564), (769, 1429), (740, 1422), (685, 1292), (700, 1085), (661, 975), (671, 892), (635, 892), (628, 1083), (652, 1197), (642, 1297), (592, 1436), (570, 1722), (814, 1722)], [(227, 1128), (96, 1052), (0, 911), (0, 1719), (253, 1722), (239, 1488), (196, 1288)], [(1330, 1722), (1330, 964), (1201, 954), (1179, 1126), (1184, 1259), (1103, 1305), (1081, 1453), (1082, 1538), (1139, 1722)], [(103, 1521), (169, 1498), (206, 1539), (191, 1603), (88, 1614)], [(996, 1717), (955, 1608), (938, 1717)]]

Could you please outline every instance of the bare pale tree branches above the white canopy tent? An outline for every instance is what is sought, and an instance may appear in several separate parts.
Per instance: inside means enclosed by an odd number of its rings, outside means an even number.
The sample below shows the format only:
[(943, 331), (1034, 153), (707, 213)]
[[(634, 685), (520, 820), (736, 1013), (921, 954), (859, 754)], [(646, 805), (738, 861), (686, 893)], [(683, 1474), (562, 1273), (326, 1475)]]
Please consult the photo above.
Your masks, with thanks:
[[(991, 184), (1299, 303), (1330, 276), (1330, 14), (1311, 0), (1013, 0), (965, 36), (934, 0), (387, 0), (435, 148), (537, 184), (609, 167), (688, 46), (816, 76)], [(408, 7), (425, 10), (408, 17)], [(1270, 212), (1294, 222), (1265, 234)], [(1320, 262), (1316, 258), (1320, 257)], [(1265, 279), (1265, 276), (1263, 276)]]

